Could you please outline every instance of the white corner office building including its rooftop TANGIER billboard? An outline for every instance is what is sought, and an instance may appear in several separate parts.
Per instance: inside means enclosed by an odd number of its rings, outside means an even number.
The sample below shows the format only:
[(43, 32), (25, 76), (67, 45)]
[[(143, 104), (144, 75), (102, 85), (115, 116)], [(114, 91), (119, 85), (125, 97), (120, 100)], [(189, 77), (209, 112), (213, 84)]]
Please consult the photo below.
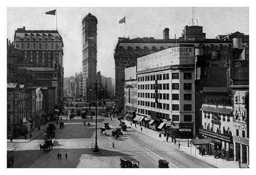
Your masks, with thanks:
[(194, 50), (183, 45), (137, 59), (137, 113), (152, 119), (151, 128), (195, 136)]

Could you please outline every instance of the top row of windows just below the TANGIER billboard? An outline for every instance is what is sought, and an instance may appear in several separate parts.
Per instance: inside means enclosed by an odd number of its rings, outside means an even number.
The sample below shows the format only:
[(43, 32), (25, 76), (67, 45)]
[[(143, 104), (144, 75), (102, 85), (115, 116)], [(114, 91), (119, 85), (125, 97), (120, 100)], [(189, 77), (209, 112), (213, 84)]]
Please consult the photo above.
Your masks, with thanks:
[[(157, 75), (151, 75), (151, 76), (149, 76), (149, 75), (148, 76), (140, 76), (140, 77), (138, 77), (138, 82), (162, 80), (162, 77), (163, 77), (163, 80), (169, 79), (169, 73), (157, 74)], [(172, 79), (179, 79), (179, 73), (172, 73)], [(184, 72), (183, 79), (192, 79), (192, 73)]]

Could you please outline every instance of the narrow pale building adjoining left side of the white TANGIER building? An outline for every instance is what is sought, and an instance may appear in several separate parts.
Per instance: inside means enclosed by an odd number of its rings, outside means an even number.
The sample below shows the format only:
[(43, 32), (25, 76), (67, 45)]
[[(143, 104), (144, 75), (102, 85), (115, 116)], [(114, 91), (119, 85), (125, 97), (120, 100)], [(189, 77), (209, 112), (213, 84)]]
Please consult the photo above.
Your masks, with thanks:
[(137, 111), (137, 75), (136, 66), (125, 68), (125, 106), (124, 109), (130, 115)]

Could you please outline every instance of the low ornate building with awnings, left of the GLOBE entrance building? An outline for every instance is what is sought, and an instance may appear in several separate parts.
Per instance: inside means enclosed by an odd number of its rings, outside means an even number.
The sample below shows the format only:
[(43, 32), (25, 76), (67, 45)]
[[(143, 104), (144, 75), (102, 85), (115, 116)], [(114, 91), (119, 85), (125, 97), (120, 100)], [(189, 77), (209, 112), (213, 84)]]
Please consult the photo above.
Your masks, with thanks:
[(205, 87), (201, 91), (204, 102), (201, 107), (202, 124), (199, 134), (208, 138), (203, 145), (205, 152), (214, 155), (223, 151), (227, 158), (233, 158), (233, 107), (231, 91), (227, 87)]

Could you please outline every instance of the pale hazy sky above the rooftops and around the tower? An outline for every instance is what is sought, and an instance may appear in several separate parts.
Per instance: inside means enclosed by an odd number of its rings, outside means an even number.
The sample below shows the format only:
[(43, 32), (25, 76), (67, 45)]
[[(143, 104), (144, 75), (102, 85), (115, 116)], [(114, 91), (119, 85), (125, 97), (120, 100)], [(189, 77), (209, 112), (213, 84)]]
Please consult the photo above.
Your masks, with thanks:
[[(97, 71), (115, 78), (113, 53), (118, 37), (154, 37), (163, 39), (163, 29), (169, 28), (170, 38), (177, 37), (192, 19), (192, 7), (9, 7), (7, 8), (7, 38), (14, 39), (17, 28), (26, 30), (55, 30), (55, 16), (45, 12), (57, 9), (58, 31), (64, 42), (64, 77), (82, 71), (82, 19), (89, 12), (98, 19)], [(203, 26), (207, 38), (240, 31), (249, 34), (249, 8), (195, 7), (194, 19)]]

